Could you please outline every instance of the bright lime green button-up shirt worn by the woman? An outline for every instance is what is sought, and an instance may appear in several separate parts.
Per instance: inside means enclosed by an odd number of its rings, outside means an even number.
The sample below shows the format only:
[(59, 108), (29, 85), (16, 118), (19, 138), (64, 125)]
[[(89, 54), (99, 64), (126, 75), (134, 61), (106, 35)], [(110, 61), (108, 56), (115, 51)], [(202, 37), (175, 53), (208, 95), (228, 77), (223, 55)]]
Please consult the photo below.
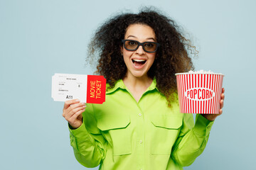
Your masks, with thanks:
[(203, 152), (213, 122), (167, 106), (156, 80), (139, 102), (122, 80), (107, 91), (102, 105), (89, 104), (82, 125), (70, 129), (75, 158), (86, 167), (102, 170), (183, 169)]

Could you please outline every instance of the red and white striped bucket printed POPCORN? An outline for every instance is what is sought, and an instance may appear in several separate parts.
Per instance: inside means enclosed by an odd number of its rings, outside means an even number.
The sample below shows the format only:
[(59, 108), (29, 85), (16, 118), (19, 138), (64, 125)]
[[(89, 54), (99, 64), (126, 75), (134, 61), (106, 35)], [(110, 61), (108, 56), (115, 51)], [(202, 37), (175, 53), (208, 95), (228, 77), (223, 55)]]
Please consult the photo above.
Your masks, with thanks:
[(223, 74), (177, 73), (181, 113), (218, 114)]

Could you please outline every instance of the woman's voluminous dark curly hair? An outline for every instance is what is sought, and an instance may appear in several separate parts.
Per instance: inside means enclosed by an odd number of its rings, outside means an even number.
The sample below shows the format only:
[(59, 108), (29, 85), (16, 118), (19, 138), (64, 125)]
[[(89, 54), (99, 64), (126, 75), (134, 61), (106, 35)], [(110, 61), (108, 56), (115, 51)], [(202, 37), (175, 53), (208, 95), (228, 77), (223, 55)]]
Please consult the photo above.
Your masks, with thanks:
[(171, 101), (177, 99), (175, 73), (193, 69), (188, 51), (193, 55), (198, 53), (191, 45), (191, 41), (181, 35), (181, 28), (171, 18), (150, 8), (137, 14), (122, 13), (110, 18), (98, 28), (92, 38), (87, 61), (92, 63), (95, 60), (95, 53), (99, 55), (96, 74), (104, 76), (110, 84), (109, 88), (112, 88), (115, 82), (123, 79), (127, 73), (120, 50), (121, 40), (124, 39), (127, 27), (135, 23), (153, 28), (156, 41), (161, 44), (148, 76), (156, 79), (156, 87), (166, 96), (171, 106)]

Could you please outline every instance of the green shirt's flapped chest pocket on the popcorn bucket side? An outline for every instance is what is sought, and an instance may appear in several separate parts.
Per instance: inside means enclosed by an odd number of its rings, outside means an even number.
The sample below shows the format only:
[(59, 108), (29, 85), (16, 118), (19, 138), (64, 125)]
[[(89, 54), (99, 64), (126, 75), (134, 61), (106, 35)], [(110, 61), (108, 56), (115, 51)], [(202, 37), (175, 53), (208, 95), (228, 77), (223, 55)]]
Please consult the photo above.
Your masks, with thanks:
[(183, 123), (182, 115), (154, 115), (151, 119), (151, 154), (171, 154)]

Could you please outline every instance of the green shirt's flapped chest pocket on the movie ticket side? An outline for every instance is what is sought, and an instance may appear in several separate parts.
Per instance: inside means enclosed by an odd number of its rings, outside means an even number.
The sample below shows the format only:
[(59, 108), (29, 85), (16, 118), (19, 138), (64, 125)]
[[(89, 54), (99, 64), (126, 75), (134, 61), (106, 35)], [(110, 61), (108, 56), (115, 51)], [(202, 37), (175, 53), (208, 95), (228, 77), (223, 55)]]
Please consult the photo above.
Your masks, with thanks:
[(131, 154), (130, 118), (127, 114), (108, 114), (97, 118), (97, 127), (107, 136), (113, 155)]

